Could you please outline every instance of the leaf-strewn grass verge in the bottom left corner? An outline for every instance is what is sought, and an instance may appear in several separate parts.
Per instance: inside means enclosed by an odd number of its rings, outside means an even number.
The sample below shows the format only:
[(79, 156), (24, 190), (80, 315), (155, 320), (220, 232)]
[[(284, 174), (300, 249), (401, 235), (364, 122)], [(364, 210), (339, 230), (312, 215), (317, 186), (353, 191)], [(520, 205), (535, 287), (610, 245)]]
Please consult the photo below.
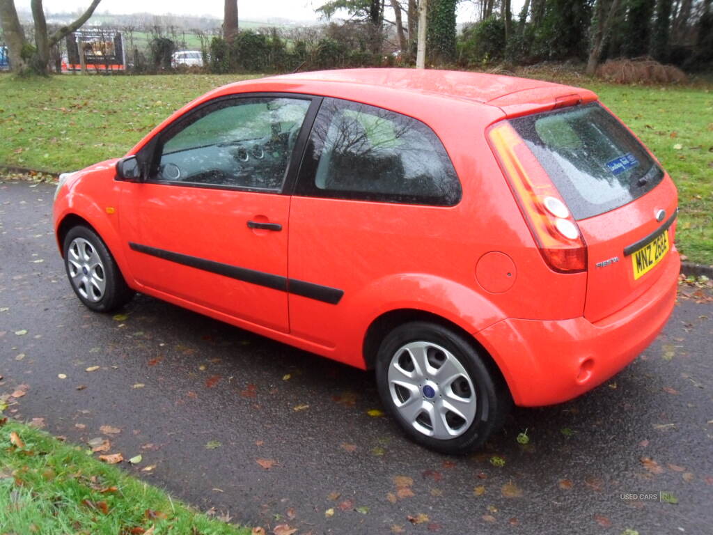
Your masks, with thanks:
[[(2, 422), (2, 420), (0, 420)], [(0, 424), (0, 533), (249, 535), (164, 491), (7, 419)]]

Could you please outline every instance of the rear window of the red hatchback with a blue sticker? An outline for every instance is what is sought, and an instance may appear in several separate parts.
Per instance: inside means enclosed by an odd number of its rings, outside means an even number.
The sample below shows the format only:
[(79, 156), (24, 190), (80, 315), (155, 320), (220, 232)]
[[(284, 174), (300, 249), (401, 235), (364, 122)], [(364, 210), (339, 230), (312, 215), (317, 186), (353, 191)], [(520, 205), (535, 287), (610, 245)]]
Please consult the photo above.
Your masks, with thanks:
[(619, 208), (651, 190), (663, 170), (597, 103), (511, 121), (575, 219)]

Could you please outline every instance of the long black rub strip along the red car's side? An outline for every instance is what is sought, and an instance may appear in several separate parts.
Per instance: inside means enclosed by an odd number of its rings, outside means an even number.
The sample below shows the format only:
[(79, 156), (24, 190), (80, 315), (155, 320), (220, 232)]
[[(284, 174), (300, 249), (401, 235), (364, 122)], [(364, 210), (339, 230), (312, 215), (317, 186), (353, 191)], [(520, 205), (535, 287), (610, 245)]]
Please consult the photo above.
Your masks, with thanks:
[(250, 282), (251, 284), (265, 286), (274, 290), (280, 290), (281, 292), (289, 291), (295, 295), (302, 295), (302, 297), (309, 297), (310, 299), (317, 301), (327, 302), (330, 305), (337, 305), (339, 300), (342, 299), (342, 295), (344, 295), (344, 290), (314, 284), (314, 282), (288, 279), (287, 277), (282, 277), (280, 275), (272, 275), (272, 273), (249, 270), (247, 267), (238, 267), (237, 265), (214, 262), (213, 260), (205, 260), (205, 258), (183, 255), (182, 253), (173, 253), (173, 251), (149, 247), (148, 245), (141, 245), (140, 243), (129, 242), (129, 247), (132, 250), (138, 251), (138, 253), (155, 256), (156, 258), (163, 258), (163, 260), (188, 265), (189, 267), (195, 267), (198, 270), (208, 271), (216, 273), (217, 275), (223, 275), (224, 277)]

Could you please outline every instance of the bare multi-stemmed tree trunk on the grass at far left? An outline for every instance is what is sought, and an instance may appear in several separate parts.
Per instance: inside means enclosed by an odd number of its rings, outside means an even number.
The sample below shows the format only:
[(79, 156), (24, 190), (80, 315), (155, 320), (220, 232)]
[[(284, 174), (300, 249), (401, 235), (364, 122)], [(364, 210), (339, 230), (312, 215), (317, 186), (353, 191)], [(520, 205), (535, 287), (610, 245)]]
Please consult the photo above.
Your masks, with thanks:
[(10, 49), (12, 70), (24, 73), (31, 69), (40, 74), (48, 73), (50, 49), (59, 41), (80, 28), (94, 13), (101, 0), (92, 0), (91, 5), (78, 19), (66, 26), (60, 26), (52, 34), (48, 34), (47, 21), (42, 7), (42, 0), (32, 0), (32, 19), (34, 20), (35, 50), (31, 54), (23, 54), (27, 50), (27, 39), (17, 16), (14, 0), (0, 0), (0, 21), (3, 33)]

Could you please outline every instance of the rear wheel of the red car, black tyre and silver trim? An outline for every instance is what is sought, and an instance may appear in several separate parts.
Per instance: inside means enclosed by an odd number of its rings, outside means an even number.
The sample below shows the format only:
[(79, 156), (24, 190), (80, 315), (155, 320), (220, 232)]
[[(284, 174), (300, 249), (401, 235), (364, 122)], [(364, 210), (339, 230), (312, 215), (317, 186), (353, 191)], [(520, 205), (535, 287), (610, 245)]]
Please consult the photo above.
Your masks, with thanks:
[(384, 337), (376, 355), (379, 395), (414, 442), (466, 454), (501, 427), (512, 397), (481, 351), (473, 340), (431, 322), (409, 322)]

